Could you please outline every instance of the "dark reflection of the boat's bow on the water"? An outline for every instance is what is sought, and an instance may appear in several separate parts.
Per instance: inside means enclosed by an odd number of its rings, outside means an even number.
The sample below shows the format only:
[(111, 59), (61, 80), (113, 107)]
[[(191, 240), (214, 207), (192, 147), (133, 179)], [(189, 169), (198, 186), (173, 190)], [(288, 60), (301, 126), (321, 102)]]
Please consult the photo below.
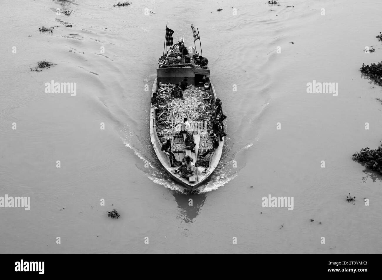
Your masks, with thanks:
[(193, 219), (199, 215), (201, 207), (204, 205), (204, 201), (207, 197), (206, 194), (184, 195), (180, 192), (174, 192), (173, 196), (175, 197), (176, 203), (178, 203), (178, 208), (180, 209), (179, 217), (186, 223), (192, 223)]

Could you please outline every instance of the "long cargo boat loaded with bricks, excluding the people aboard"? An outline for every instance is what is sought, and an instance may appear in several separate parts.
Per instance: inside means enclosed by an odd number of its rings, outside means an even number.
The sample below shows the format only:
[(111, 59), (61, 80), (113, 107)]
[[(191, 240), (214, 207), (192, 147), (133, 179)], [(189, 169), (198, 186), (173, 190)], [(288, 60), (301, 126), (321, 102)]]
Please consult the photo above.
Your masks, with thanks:
[[(167, 53), (175, 53), (179, 51), (178, 46), (174, 45)], [(192, 53), (190, 54), (190, 56)], [(166, 55), (165, 55), (166, 56)], [(159, 92), (165, 104), (159, 106), (158, 104), (151, 104), (150, 108), (150, 136), (151, 143), (154, 147), (155, 154), (157, 155), (160, 163), (163, 165), (167, 173), (173, 180), (185, 186), (191, 192), (200, 187), (206, 182), (207, 178), (214, 172), (219, 164), (220, 157), (222, 156), (223, 141), (219, 139), (219, 147), (207, 155), (205, 158), (199, 158), (197, 155), (203, 154), (207, 149), (212, 146), (212, 139), (210, 133), (212, 132), (213, 117), (209, 115), (213, 112), (207, 110), (206, 118), (200, 116), (198, 109), (202, 111), (204, 107), (214, 104), (216, 101), (216, 92), (214, 86), (210, 81), (210, 70), (207, 66), (197, 65), (194, 59), (190, 63), (184, 63), (186, 59), (177, 64), (166, 65), (164, 57), (159, 61), (157, 68), (157, 77), (155, 78), (152, 87), (151, 96), (155, 92)], [(171, 93), (168, 91), (173, 85), (181, 82), (183, 78), (188, 77), (188, 88), (183, 91), (184, 101), (181, 98), (172, 98)], [(171, 86), (171, 87), (170, 87)], [(208, 98), (209, 96), (209, 98)], [(199, 106), (201, 104), (201, 106)], [(164, 109), (165, 108), (165, 109)], [(159, 130), (158, 117), (163, 119), (167, 115), (167, 120), (171, 128)], [(194, 136), (196, 146), (194, 151), (185, 149), (184, 139), (186, 134), (180, 134), (183, 131), (183, 118), (188, 118), (191, 124), (191, 130)], [(159, 119), (160, 120), (160, 119)], [(168, 126), (167, 126), (168, 127)], [(163, 137), (160, 137), (163, 134)], [(219, 138), (219, 137), (218, 137)], [(186, 155), (193, 158), (193, 163), (196, 167), (194, 176), (184, 178), (178, 173), (179, 166), (172, 166), (169, 155), (161, 151), (162, 144), (170, 139), (172, 142), (172, 151), (176, 160), (182, 161)]]

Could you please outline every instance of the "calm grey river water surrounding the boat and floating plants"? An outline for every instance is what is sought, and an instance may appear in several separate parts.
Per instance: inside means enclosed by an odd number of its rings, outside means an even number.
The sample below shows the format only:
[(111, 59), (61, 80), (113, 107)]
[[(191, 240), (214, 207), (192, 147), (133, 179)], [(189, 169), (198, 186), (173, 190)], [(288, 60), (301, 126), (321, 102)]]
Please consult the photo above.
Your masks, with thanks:
[[(382, 2), (116, 3), (2, 3), (0, 196), (31, 209), (0, 208), (0, 253), (381, 253), (382, 180), (351, 155), (380, 145), (381, 88), (359, 67), (380, 61)], [(164, 173), (149, 137), (166, 22), (189, 46), (199, 29), (228, 115), (199, 194)], [(30, 70), (44, 59), (56, 65)], [(76, 95), (45, 93), (52, 80)], [(338, 95), (307, 93), (314, 80)], [(263, 208), (268, 195), (293, 211)]]

